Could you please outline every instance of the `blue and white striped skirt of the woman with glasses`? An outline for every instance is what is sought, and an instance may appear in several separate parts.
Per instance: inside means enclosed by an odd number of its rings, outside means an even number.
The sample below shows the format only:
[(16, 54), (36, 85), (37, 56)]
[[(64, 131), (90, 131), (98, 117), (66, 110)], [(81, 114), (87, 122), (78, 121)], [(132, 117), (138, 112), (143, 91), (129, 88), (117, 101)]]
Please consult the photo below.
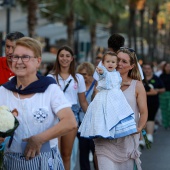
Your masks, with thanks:
[(4, 164), (6, 170), (64, 170), (57, 147), (51, 148), (51, 152), (41, 152), (28, 161), (21, 153), (5, 153)]

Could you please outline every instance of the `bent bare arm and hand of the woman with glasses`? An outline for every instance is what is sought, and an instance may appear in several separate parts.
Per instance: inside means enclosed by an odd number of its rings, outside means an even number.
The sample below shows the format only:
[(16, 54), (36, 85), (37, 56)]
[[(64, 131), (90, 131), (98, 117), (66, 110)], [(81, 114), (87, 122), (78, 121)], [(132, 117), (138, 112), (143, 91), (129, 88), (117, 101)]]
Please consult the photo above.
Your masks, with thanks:
[(77, 128), (77, 122), (71, 108), (64, 108), (60, 110), (57, 113), (57, 116), (60, 119), (59, 123), (38, 135), (24, 139), (24, 141), (28, 142), (24, 152), (26, 160), (39, 155), (43, 143), (46, 143), (53, 138), (63, 136)]

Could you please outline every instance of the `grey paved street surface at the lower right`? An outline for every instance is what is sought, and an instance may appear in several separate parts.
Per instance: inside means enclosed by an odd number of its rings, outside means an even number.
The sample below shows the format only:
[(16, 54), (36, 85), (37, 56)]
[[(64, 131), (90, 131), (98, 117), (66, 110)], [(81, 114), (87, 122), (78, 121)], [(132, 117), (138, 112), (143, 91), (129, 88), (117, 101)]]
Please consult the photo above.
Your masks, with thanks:
[[(142, 170), (170, 170), (170, 130), (158, 129), (152, 148), (142, 150), (141, 161)], [(75, 170), (80, 170), (78, 162)]]

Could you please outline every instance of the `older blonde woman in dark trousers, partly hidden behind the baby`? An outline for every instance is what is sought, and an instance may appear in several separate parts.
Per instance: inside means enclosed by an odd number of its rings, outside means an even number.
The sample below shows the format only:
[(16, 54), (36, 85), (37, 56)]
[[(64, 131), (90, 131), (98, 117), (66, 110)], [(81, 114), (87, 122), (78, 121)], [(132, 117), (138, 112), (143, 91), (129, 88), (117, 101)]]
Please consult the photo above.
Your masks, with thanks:
[[(91, 103), (93, 99), (93, 93), (96, 88), (96, 81), (93, 78), (95, 67), (93, 64), (89, 62), (83, 62), (77, 67), (77, 73), (81, 74), (84, 77), (85, 84), (86, 84), (86, 100), (88, 104)], [(79, 120), (80, 124), (83, 121), (85, 113), (82, 109), (79, 112)], [(93, 154), (93, 162), (94, 168), (97, 169), (97, 160), (96, 156), (94, 155), (94, 142), (92, 139), (81, 137), (80, 134), (77, 134), (79, 139), (79, 160), (80, 160), (80, 169), (81, 170), (90, 170), (90, 161), (89, 161), (89, 154), (92, 152)]]

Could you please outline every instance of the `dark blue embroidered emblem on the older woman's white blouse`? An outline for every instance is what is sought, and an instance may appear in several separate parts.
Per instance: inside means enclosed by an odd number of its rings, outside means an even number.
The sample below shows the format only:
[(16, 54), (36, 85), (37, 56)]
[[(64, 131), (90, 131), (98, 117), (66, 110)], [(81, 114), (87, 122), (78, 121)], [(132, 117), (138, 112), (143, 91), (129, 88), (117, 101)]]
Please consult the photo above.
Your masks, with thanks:
[(48, 110), (45, 108), (39, 108), (33, 113), (37, 123), (44, 123), (48, 117)]

